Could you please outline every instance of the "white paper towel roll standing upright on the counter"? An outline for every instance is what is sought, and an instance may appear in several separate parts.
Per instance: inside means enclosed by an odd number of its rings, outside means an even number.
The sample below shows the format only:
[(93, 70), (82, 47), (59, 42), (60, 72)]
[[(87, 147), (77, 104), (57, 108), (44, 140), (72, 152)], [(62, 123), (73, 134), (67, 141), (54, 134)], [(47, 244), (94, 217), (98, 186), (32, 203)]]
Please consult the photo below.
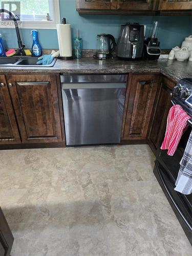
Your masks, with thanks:
[(72, 56), (71, 25), (57, 24), (57, 36), (61, 57)]

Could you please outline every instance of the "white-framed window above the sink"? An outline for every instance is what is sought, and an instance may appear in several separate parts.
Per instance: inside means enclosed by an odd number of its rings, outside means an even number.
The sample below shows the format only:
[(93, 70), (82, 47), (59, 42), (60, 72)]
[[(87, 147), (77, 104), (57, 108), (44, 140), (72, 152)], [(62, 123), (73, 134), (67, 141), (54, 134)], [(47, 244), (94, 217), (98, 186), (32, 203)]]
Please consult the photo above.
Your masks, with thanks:
[[(60, 23), (59, 0), (0, 0), (1, 8), (11, 10), (20, 19), (20, 28), (55, 29)], [(0, 28), (14, 27), (4, 14)], [(7, 25), (7, 26), (6, 26)]]

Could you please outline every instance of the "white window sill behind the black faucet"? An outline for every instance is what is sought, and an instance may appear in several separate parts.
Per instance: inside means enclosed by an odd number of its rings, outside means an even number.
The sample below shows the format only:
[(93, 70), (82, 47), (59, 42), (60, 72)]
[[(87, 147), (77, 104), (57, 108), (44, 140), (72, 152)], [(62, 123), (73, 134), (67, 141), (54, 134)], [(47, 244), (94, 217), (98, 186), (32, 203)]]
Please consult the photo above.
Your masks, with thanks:
[[(36, 20), (24, 20), (23, 22), (18, 22), (19, 29), (56, 29), (56, 24), (54, 22), (48, 21), (36, 21)], [(14, 22), (12, 20), (1, 20), (0, 28), (12, 29), (15, 28)]]

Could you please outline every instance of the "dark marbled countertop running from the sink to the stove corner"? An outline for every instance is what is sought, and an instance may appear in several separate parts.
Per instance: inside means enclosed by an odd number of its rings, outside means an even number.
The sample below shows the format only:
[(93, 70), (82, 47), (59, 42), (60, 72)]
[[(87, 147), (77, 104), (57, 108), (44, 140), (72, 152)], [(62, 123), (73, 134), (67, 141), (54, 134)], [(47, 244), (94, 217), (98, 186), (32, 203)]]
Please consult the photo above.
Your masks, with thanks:
[(0, 67), (0, 73), (161, 73), (178, 81), (192, 76), (191, 61), (159, 59), (158, 61), (135, 60), (127, 61), (118, 58), (97, 60), (83, 57), (75, 60), (57, 59), (54, 67)]

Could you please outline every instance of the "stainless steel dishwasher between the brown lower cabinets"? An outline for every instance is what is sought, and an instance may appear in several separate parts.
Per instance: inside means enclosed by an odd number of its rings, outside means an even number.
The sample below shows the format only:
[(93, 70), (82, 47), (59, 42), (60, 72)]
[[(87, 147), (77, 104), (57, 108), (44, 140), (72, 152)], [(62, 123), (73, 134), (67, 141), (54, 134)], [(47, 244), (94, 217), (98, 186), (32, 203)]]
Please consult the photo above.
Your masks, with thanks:
[(61, 75), (66, 144), (120, 143), (127, 75)]

